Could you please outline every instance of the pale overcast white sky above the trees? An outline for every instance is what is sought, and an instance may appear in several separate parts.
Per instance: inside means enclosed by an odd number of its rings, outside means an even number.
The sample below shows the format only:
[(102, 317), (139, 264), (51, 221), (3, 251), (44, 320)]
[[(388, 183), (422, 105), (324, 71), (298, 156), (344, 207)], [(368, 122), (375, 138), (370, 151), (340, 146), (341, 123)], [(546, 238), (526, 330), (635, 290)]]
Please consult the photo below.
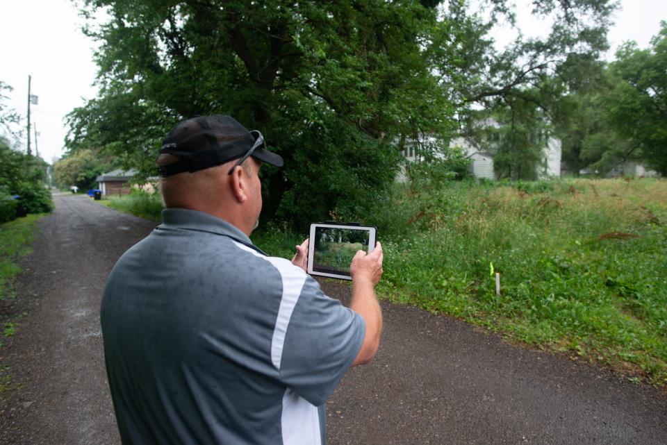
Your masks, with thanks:
[[(665, 0), (621, 0), (620, 4), (616, 24), (609, 30), (607, 60), (613, 60), (618, 45), (627, 40), (648, 47), (660, 20), (667, 20)], [(530, 1), (516, 0), (516, 5), (522, 33), (541, 35), (547, 27), (530, 17)], [(92, 85), (97, 73), (92, 61), (94, 42), (81, 33), (84, 21), (71, 0), (0, 0), (0, 10), (0, 81), (14, 88), (6, 92), (5, 105), (26, 115), (31, 75), (31, 94), (39, 97), (38, 105), (31, 106), (38, 150), (44, 160), (53, 162), (64, 152), (65, 115), (97, 92)], [(511, 31), (499, 29), (495, 35), (502, 44)], [(17, 148), (26, 149), (25, 137)]]

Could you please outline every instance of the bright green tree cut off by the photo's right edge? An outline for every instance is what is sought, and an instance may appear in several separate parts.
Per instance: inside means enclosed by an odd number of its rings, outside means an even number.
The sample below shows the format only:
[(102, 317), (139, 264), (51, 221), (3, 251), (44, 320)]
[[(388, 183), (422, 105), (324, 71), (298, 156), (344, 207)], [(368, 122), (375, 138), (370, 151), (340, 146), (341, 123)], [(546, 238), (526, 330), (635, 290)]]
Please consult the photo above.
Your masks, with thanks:
[(650, 49), (627, 42), (609, 66), (613, 87), (600, 101), (609, 126), (635, 156), (667, 175), (667, 22)]

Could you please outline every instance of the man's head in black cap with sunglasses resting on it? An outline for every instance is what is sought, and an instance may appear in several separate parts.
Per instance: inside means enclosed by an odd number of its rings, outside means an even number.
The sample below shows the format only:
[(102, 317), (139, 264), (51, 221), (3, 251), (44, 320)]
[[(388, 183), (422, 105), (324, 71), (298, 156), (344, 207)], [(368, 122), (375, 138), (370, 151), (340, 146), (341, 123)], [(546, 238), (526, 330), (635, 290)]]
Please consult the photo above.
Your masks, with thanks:
[(167, 208), (210, 213), (249, 233), (261, 211), (261, 162), (281, 167), (258, 131), (229, 116), (193, 117), (176, 124), (158, 157)]

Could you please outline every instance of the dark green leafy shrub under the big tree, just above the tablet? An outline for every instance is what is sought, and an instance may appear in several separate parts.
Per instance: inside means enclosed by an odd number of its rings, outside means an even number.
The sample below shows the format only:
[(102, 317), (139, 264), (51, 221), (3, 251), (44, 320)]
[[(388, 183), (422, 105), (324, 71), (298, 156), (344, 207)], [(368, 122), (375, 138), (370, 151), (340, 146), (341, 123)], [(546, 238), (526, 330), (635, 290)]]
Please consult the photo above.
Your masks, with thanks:
[[(338, 117), (323, 117), (320, 131), (293, 137), (283, 135), (283, 153), (292, 153), (279, 173), (262, 167), (263, 220), (276, 215), (296, 226), (312, 221), (365, 215), (380, 203), (397, 174), (400, 154), (392, 144), (374, 140), (343, 124)], [(331, 120), (329, 120), (331, 119)], [(285, 128), (290, 124), (285, 122)], [(279, 124), (277, 124), (279, 126)], [(279, 137), (281, 139), (282, 137)], [(363, 148), (361, 148), (363, 147)], [(288, 159), (286, 159), (288, 161)], [(279, 191), (286, 190), (280, 196)], [(279, 205), (276, 211), (273, 208)]]

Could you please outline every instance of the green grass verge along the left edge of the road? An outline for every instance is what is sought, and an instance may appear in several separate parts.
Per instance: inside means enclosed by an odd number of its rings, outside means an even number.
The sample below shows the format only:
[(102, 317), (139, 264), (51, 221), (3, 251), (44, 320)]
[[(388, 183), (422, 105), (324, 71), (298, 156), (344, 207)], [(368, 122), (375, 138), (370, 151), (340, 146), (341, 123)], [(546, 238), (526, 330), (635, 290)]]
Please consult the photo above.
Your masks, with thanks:
[(0, 300), (13, 298), (13, 281), (21, 272), (17, 260), (31, 253), (35, 223), (44, 215), (28, 215), (0, 224)]

